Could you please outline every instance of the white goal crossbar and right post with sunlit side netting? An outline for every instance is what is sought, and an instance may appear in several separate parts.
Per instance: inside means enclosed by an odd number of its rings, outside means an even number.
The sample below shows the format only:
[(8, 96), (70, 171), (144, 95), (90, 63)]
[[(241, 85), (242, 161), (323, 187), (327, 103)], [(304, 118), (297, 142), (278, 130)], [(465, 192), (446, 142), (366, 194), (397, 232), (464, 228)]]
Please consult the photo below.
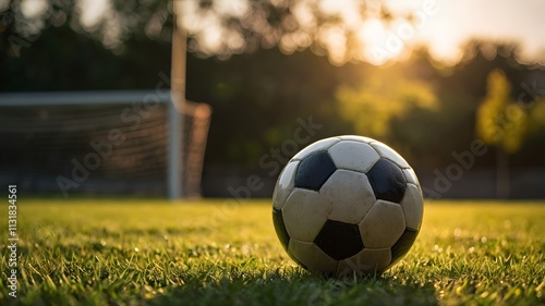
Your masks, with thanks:
[[(189, 195), (183, 187), (198, 189), (203, 167), (204, 148), (208, 133), (211, 108), (206, 103), (192, 101), (180, 102), (178, 96), (168, 89), (141, 90), (89, 90), (89, 91), (43, 91), (43, 93), (2, 93), (0, 107), (49, 107), (49, 106), (89, 106), (89, 105), (131, 105), (138, 102), (164, 103), (167, 106), (169, 121), (167, 189), (171, 199)], [(196, 137), (184, 139), (184, 115), (194, 118)], [(187, 140), (196, 146), (184, 157), (182, 142)], [(195, 151), (202, 154), (195, 154)], [(184, 162), (185, 160), (185, 162)], [(187, 168), (190, 168), (187, 170)], [(183, 173), (191, 171), (187, 182)], [(191, 192), (190, 193), (194, 193)], [(194, 195), (194, 194), (193, 194)]]

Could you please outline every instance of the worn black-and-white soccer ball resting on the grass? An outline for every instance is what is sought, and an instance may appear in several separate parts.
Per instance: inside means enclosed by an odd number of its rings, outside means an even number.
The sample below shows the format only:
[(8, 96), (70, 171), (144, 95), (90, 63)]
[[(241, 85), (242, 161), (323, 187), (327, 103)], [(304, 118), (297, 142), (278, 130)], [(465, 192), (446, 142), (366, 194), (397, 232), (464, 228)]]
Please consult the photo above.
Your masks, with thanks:
[(372, 138), (316, 142), (283, 168), (272, 195), (275, 230), (289, 256), (330, 277), (379, 276), (411, 248), (423, 217), (416, 174)]

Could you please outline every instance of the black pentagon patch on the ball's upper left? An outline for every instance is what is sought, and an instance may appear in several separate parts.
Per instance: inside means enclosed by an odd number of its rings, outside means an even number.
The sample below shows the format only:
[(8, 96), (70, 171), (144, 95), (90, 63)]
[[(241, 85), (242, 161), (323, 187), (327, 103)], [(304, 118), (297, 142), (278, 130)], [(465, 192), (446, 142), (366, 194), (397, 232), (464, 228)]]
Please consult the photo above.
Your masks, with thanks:
[(295, 173), (295, 187), (319, 191), (337, 170), (327, 151), (319, 151), (303, 159)]

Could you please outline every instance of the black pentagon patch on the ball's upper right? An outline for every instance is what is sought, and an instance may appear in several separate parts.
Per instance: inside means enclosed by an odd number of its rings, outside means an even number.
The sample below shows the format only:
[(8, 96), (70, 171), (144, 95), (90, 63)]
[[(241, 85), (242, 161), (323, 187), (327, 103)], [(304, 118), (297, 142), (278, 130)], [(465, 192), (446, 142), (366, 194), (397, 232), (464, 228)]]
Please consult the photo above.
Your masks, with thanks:
[(407, 182), (403, 172), (396, 163), (380, 158), (367, 172), (367, 178), (377, 199), (401, 203)]

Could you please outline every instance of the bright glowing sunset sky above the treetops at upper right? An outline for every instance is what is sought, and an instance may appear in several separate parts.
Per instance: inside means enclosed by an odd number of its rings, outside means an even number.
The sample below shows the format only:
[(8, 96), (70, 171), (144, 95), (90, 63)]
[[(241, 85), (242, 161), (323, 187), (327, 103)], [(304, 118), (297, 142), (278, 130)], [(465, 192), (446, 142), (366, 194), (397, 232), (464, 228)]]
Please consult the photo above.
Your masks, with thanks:
[[(411, 49), (425, 46), (436, 60), (445, 64), (456, 64), (462, 57), (463, 45), (470, 39), (493, 39), (499, 42), (519, 42), (520, 60), (542, 61), (545, 50), (545, 36), (541, 34), (545, 2), (528, 1), (524, 5), (513, 0), (500, 3), (483, 1), (417, 0), (385, 2), (393, 15), (401, 16), (390, 22), (368, 17), (362, 24), (353, 22), (354, 10), (340, 9), (332, 1), (325, 1), (322, 8), (338, 13), (344, 21), (351, 21), (346, 27), (359, 26), (356, 44), (364, 61), (383, 64), (388, 60), (404, 58)], [(351, 1), (348, 1), (351, 2)], [(370, 15), (376, 12), (378, 1), (367, 1)], [(350, 7), (350, 5), (346, 5)], [(403, 16), (410, 15), (405, 20)], [(509, 21), (509, 22), (506, 22)], [(335, 38), (339, 41), (338, 38)], [(344, 46), (329, 44), (339, 53)], [(340, 49), (340, 50), (339, 50)], [(358, 52), (356, 52), (358, 53)], [(337, 58), (337, 57), (334, 57)]]

